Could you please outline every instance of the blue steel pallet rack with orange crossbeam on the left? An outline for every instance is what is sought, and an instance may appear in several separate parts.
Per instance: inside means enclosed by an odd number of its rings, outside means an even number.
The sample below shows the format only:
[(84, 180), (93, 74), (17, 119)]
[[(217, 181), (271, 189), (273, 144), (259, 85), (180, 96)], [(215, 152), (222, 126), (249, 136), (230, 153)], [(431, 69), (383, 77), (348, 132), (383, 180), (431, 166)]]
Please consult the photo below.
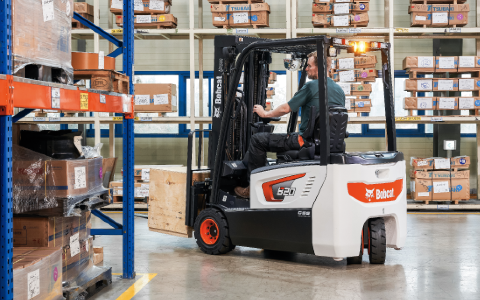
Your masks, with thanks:
[[(130, 77), (133, 94), (133, 0), (123, 1), (123, 40), (74, 13), (74, 18), (119, 48), (109, 56), (123, 54), (123, 72)], [(51, 89), (60, 89), (60, 109), (85, 112), (123, 114), (124, 205), (120, 225), (99, 211), (94, 215), (111, 225), (112, 229), (92, 229), (92, 234), (123, 236), (123, 278), (135, 277), (133, 269), (133, 101), (132, 96), (117, 93), (98, 93), (63, 84), (54, 84), (14, 77), (12, 75), (12, 0), (0, 3), (0, 299), (13, 299), (13, 234), (12, 234), (12, 125), (35, 108), (51, 109)], [(35, 95), (35, 98), (32, 98)], [(105, 102), (100, 101), (105, 95)], [(81, 105), (81, 99), (82, 105)], [(103, 96), (102, 96), (103, 100)], [(13, 108), (27, 108), (13, 115)]]

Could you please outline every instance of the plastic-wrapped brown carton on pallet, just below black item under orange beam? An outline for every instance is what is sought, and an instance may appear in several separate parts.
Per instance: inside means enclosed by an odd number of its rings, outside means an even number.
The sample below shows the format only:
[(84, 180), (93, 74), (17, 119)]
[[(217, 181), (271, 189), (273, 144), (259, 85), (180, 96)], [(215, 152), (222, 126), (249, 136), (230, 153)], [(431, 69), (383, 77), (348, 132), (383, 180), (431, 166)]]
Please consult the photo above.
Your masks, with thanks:
[(63, 215), (75, 215), (76, 204), (108, 192), (102, 164), (102, 157), (54, 159), (13, 145), (13, 213), (53, 208), (63, 201)]

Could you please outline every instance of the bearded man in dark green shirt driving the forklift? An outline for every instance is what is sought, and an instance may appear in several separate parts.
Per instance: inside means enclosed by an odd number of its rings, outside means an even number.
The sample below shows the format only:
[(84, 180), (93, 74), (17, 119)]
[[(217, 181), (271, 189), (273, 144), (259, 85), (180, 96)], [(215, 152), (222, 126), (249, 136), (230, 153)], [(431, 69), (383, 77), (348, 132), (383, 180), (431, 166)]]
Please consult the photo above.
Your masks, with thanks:
[[(254, 134), (248, 151), (249, 174), (256, 168), (265, 166), (267, 152), (283, 152), (288, 150), (300, 150), (303, 145), (302, 134), (308, 126), (310, 117), (310, 108), (315, 106), (318, 111), (318, 68), (317, 68), (317, 52), (308, 55), (307, 75), (312, 79), (302, 86), (293, 98), (285, 104), (280, 105), (271, 111), (265, 111), (260, 105), (253, 107), (253, 112), (257, 113), (261, 118), (274, 118), (288, 114), (292, 111), (298, 111), (301, 108), (300, 133), (291, 134), (273, 134), (261, 132)], [(331, 58), (327, 58), (327, 72), (330, 71)], [(345, 93), (342, 88), (336, 84), (331, 78), (327, 79), (328, 87), (328, 105), (329, 106), (345, 106)], [(235, 193), (241, 198), (250, 198), (250, 185), (246, 188), (240, 186), (235, 188)]]

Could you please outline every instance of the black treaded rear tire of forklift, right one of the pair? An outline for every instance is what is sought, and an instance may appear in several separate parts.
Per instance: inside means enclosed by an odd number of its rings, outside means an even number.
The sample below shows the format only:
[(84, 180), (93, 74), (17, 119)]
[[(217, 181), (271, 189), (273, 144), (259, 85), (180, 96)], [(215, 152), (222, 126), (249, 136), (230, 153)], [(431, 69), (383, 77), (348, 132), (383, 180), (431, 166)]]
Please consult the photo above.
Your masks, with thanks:
[(374, 218), (368, 221), (368, 254), (370, 264), (384, 264), (387, 250), (384, 218)]

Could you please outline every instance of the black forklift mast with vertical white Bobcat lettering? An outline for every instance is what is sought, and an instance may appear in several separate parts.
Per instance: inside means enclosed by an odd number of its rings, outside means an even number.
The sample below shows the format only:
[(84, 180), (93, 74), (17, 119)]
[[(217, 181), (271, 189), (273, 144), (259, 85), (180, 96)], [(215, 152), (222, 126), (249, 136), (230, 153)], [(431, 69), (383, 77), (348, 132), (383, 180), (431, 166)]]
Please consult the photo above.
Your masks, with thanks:
[[(208, 140), (208, 168), (215, 165), (217, 145), (219, 141), (222, 117), (225, 113), (225, 99), (235, 71), (237, 55), (253, 42), (266, 39), (243, 36), (216, 36), (214, 60), (214, 92), (212, 131)], [(226, 138), (226, 157), (229, 160), (242, 160), (250, 144), (252, 130), (259, 117), (253, 114), (253, 106), (266, 105), (266, 87), (268, 84), (268, 65), (272, 62), (269, 51), (254, 51), (243, 68), (243, 88), (237, 87), (233, 119), (228, 127)], [(241, 70), (239, 70), (241, 72)], [(253, 126), (252, 126), (253, 124)], [(256, 130), (258, 132), (258, 129)], [(262, 131), (260, 131), (262, 132)], [(255, 133), (255, 132), (254, 132)]]

